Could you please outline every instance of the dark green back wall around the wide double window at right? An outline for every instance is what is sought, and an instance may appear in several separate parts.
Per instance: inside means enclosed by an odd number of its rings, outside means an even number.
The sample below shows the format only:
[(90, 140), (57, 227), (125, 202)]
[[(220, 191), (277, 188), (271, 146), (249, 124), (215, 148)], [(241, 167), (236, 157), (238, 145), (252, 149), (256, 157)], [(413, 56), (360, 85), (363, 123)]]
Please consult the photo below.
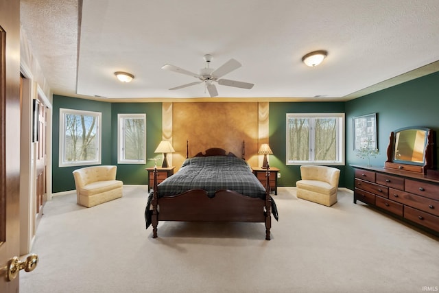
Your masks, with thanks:
[[(344, 102), (270, 103), (270, 165), (281, 169), (279, 186), (296, 186), (300, 180), (300, 166), (287, 166), (287, 113), (344, 113)], [(344, 186), (344, 166), (340, 169), (340, 186)]]

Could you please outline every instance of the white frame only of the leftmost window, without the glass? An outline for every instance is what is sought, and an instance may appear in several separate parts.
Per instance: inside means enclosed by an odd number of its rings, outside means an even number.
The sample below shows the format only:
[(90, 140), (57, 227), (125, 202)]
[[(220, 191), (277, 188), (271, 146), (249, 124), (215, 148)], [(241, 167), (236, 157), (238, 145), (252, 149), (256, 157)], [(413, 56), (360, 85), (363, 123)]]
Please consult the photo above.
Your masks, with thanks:
[[(64, 117), (65, 115), (87, 115), (87, 116), (95, 116), (97, 117), (96, 122), (96, 159), (91, 161), (64, 161), (65, 155), (65, 126), (64, 126)], [(84, 166), (84, 165), (101, 165), (102, 162), (102, 113), (95, 111), (87, 111), (87, 110), (75, 110), (68, 108), (60, 108), (60, 148), (59, 148), (59, 161), (58, 167), (73, 167), (73, 166)]]

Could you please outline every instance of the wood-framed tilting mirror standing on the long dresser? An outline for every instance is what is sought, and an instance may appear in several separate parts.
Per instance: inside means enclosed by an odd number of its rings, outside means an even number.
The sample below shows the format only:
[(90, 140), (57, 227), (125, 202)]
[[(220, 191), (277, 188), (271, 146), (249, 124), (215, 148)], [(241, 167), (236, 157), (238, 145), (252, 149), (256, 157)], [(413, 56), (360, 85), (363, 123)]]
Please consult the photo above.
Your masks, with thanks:
[(385, 167), (424, 173), (434, 167), (434, 131), (430, 128), (400, 128), (390, 133)]

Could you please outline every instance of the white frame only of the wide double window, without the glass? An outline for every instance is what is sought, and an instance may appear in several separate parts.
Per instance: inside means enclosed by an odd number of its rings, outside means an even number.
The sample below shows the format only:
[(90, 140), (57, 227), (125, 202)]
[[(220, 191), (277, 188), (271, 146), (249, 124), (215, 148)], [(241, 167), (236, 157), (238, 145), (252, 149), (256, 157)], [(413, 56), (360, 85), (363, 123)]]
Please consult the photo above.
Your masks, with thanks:
[[(315, 161), (314, 156), (314, 145), (315, 145), (315, 133), (314, 130), (311, 130), (310, 138), (309, 138), (309, 152), (310, 152), (310, 160), (309, 161), (289, 161), (288, 154), (289, 148), (291, 145), (288, 144), (289, 141), (289, 128), (288, 122), (291, 118), (308, 118), (308, 119), (321, 119), (321, 118), (336, 118), (337, 119), (337, 145), (336, 152), (338, 159), (336, 161)], [(311, 122), (311, 121), (310, 121)], [(312, 122), (311, 128), (314, 125)], [(285, 141), (285, 165), (345, 165), (345, 146), (346, 146), (346, 121), (345, 121), (345, 113), (287, 113), (286, 115), (286, 141)]]

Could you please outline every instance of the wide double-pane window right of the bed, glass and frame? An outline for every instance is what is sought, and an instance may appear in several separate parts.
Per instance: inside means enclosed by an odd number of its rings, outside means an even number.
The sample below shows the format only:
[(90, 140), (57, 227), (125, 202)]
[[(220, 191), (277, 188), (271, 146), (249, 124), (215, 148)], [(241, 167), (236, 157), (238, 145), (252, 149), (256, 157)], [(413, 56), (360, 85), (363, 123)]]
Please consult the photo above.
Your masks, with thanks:
[(344, 113), (287, 114), (287, 165), (344, 165)]

